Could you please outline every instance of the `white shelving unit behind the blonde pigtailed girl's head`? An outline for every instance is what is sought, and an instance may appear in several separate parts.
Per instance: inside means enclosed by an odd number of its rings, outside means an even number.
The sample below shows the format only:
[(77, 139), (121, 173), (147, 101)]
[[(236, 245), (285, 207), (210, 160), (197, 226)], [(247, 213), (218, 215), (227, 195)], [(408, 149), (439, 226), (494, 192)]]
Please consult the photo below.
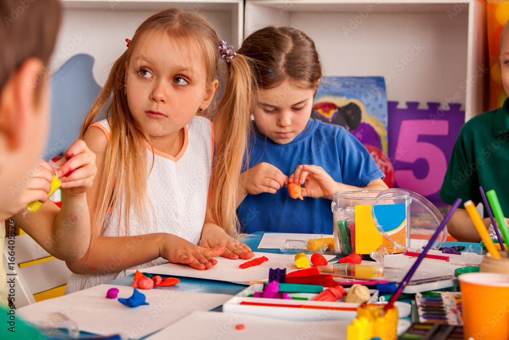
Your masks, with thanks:
[(152, 14), (168, 7), (202, 13), (221, 39), (239, 47), (243, 38), (243, 0), (63, 0), (64, 18), (51, 71), (69, 58), (86, 53), (95, 58), (94, 78), (101, 86), (109, 69), (126, 49), (126, 38)]

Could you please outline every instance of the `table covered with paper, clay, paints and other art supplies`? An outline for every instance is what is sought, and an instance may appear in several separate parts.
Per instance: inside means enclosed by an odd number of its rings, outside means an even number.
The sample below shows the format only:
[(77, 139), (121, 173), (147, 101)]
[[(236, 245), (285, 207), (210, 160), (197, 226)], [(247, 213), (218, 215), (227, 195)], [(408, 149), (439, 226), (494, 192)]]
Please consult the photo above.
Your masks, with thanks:
[[(421, 200), (415, 193), (409, 199), (401, 197), (407, 193), (391, 190), (370, 199), (380, 203), (373, 205), (372, 223), (384, 240), (394, 242), (373, 249), (357, 247), (366, 212), (355, 206), (361, 197), (344, 196), (342, 202), (334, 202), (358, 211), (351, 215), (348, 208), (334, 210), (333, 205), (337, 230), (329, 235), (256, 232), (242, 240), (254, 252), (249, 260), (217, 257), (217, 265), (204, 271), (172, 263), (144, 268), (23, 307), (19, 315), (59, 339), (69, 338), (67, 330), (79, 338), (151, 340), (460, 339), (464, 331), (507, 339), (509, 280), (502, 274), (476, 273), (479, 265), (500, 267), (490, 263), (500, 257), (493, 241), (482, 234), (489, 252), (482, 255), (486, 250), (481, 244), (441, 238), (460, 200), (445, 219), (432, 214), (436, 220), (431, 221), (410, 204)], [(403, 203), (403, 215), (399, 206), (382, 206), (388, 201)], [(472, 213), (469, 203), (465, 206)], [(401, 222), (400, 230), (383, 229), (390, 222), (387, 214)], [(390, 238), (402, 228), (406, 240), (401, 234)], [(476, 313), (491, 318), (492, 327), (488, 329)]]

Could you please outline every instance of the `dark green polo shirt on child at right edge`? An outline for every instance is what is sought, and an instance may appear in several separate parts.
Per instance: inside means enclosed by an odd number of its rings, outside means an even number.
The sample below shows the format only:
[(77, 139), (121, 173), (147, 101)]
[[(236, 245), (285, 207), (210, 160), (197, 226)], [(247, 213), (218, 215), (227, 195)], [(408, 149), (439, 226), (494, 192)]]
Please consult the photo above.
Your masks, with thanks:
[[(459, 197), (477, 205), (483, 202), (479, 187), (485, 192), (494, 189), (504, 216), (509, 217), (508, 108), (505, 99), (501, 108), (473, 117), (461, 127), (440, 191), (442, 201), (453, 205)], [(488, 217), (486, 207), (484, 216)]]

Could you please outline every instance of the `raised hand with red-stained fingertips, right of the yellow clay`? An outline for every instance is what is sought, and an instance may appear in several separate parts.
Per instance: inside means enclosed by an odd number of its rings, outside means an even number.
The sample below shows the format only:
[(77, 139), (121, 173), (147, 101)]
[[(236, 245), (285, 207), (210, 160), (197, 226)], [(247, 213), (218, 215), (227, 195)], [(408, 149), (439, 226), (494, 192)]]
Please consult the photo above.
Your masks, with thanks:
[(63, 193), (78, 196), (92, 187), (97, 173), (95, 157), (95, 153), (80, 139), (67, 149), (64, 153), (67, 161), (56, 169)]

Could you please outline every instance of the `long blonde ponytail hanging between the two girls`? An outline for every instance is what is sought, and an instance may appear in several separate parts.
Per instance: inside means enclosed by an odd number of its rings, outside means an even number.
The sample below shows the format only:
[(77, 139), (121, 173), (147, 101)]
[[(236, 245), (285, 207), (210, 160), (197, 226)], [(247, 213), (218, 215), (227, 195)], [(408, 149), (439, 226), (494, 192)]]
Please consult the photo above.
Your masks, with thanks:
[(239, 233), (237, 187), (251, 126), (254, 86), (250, 63), (240, 54), (227, 63), (224, 95), (214, 118), (216, 149), (208, 206), (214, 221), (232, 237)]

